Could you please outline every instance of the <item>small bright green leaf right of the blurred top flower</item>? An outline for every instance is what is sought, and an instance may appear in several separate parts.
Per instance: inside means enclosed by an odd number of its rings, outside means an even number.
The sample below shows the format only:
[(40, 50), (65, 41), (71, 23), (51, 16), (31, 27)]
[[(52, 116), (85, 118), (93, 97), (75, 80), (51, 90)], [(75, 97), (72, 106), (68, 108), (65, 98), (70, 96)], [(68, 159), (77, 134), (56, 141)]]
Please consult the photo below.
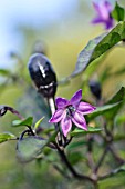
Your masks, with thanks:
[(119, 4), (116, 1), (115, 8), (111, 14), (116, 21), (124, 21), (125, 10), (122, 7), (119, 7)]

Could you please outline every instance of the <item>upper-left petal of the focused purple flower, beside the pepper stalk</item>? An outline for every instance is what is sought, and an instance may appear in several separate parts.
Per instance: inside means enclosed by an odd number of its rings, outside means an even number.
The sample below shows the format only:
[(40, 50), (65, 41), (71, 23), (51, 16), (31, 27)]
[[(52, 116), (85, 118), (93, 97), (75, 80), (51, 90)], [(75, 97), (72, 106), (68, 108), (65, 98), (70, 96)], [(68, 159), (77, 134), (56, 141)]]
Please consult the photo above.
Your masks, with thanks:
[(55, 99), (55, 106), (58, 107), (58, 109), (60, 108), (65, 108), (66, 106), (69, 105), (69, 100), (66, 100), (65, 98), (61, 98), (61, 97), (58, 97)]

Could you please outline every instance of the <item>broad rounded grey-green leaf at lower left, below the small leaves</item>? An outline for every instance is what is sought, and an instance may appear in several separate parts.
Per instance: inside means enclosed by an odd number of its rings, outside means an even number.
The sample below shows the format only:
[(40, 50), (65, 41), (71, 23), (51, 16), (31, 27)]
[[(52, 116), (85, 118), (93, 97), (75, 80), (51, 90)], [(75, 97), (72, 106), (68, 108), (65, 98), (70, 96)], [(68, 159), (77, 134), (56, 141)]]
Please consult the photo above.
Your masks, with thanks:
[(35, 159), (46, 146), (46, 140), (39, 137), (28, 137), (18, 141), (17, 156), (21, 162)]

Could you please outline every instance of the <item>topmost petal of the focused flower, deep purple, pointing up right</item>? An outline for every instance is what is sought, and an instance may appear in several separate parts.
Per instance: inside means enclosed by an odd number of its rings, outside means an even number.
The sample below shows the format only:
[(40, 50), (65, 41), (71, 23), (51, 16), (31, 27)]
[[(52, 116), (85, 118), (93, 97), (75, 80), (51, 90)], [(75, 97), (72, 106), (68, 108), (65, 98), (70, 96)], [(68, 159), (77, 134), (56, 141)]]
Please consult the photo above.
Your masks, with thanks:
[(76, 105), (81, 101), (82, 99), (82, 89), (77, 90), (74, 96), (71, 98), (70, 103), (71, 105)]

